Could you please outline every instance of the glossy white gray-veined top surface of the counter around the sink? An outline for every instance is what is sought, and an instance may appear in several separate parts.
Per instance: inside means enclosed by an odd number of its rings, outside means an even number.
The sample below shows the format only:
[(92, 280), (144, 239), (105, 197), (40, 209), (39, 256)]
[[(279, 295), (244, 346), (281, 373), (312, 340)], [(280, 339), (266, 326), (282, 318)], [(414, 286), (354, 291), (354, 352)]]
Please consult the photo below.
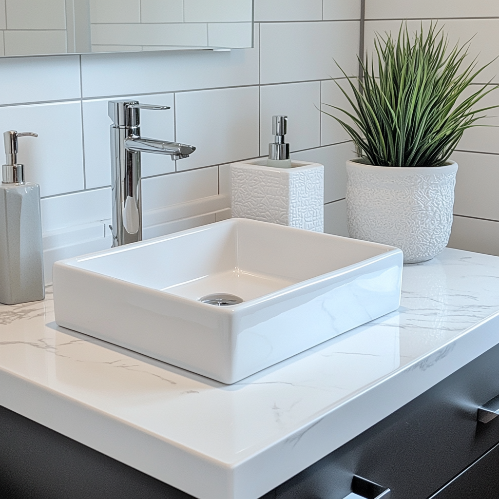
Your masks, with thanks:
[(498, 315), (499, 257), (446, 249), (406, 265), (402, 289), (398, 311), (230, 386), (57, 326), (47, 289), (42, 302), (0, 305), (0, 385), (22, 378), (234, 470), (276, 442), (298, 449), (380, 380), (450, 355)]

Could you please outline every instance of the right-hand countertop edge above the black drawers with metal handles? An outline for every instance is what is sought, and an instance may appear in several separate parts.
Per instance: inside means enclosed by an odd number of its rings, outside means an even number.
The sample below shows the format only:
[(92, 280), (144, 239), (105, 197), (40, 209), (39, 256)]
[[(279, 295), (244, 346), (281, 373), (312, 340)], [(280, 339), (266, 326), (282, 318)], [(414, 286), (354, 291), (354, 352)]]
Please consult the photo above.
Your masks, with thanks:
[[(497, 344), (499, 312), (238, 465), (234, 473), (234, 499), (263, 496)], [(341, 434), (337, 431), (339, 427)], [(255, 476), (258, 481), (252, 480)]]

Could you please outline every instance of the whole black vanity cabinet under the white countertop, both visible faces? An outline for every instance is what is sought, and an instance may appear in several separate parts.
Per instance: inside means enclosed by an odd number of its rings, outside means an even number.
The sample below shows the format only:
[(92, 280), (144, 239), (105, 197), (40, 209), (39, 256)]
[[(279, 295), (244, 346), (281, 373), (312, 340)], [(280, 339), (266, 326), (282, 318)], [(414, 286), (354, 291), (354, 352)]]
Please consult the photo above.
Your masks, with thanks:
[[(499, 417), (477, 421), (498, 394), (499, 345), (264, 499), (499, 499)], [(0, 497), (191, 496), (1, 408)]]

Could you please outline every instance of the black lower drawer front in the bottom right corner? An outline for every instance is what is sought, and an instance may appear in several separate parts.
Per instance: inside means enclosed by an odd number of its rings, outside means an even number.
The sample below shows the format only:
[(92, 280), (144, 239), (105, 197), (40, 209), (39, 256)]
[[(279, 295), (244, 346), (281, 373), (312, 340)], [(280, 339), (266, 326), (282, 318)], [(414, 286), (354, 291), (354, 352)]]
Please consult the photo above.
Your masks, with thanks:
[(430, 499), (498, 499), (499, 444)]

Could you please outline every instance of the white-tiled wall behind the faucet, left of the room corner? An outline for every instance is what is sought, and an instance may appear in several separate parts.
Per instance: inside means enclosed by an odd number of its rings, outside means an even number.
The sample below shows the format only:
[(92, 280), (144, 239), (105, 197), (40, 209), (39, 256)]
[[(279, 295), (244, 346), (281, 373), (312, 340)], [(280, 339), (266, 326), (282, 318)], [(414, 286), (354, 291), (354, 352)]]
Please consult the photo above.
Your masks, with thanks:
[[(123, 15), (136, 16), (142, 5), (147, 16), (155, 1), (129, 1)], [(104, 3), (96, 3), (100, 21), (109, 22)], [(165, 16), (178, 16), (179, 5), (168, 3), (172, 9)], [(27, 180), (41, 186), (47, 282), (55, 259), (111, 245), (107, 101), (113, 98), (170, 106), (142, 111), (142, 134), (197, 147), (176, 162), (142, 155), (145, 238), (230, 217), (229, 164), (267, 154), (274, 113), (289, 115), (293, 157), (326, 166), (326, 224), (344, 234), (344, 165), (353, 147), (330, 125), (321, 142), (318, 108), (330, 76), (341, 76), (333, 57), (356, 72), (360, 0), (324, 9), (322, 0), (285, 3), (255, 1), (260, 22), (252, 49), (0, 59), (0, 131), (39, 133), (22, 139), (20, 160)], [(202, 14), (194, 10), (192, 15)], [(227, 12), (228, 20), (239, 18)], [(339, 94), (326, 95), (341, 105)]]

